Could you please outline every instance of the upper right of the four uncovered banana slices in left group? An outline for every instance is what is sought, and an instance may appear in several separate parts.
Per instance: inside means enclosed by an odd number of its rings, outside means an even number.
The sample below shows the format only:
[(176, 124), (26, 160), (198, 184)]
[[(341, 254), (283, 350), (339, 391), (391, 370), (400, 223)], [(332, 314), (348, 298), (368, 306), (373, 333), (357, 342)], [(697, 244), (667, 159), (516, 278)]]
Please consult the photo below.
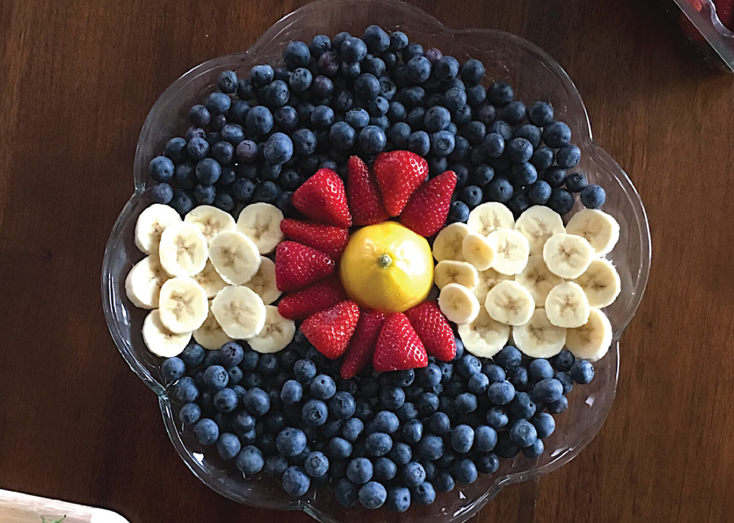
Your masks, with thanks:
[(230, 285), (250, 281), (260, 269), (258, 247), (236, 230), (223, 230), (209, 242), (209, 259), (219, 276)]

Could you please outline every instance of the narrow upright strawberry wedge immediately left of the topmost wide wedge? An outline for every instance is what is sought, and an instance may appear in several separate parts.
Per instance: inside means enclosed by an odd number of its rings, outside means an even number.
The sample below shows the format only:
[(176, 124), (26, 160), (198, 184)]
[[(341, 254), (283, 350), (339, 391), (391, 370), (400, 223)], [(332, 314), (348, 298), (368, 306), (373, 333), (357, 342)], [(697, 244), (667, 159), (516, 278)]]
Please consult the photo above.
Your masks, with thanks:
[(355, 225), (371, 225), (385, 222), (390, 216), (382, 205), (377, 180), (369, 172), (359, 156), (352, 156), (346, 164), (346, 198), (352, 222)]

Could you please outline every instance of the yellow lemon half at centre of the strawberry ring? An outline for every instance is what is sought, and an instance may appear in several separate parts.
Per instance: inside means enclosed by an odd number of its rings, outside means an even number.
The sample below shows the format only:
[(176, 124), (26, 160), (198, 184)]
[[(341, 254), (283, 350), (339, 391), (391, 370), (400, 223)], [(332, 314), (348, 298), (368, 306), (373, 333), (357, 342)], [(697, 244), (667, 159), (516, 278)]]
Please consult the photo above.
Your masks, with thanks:
[(362, 307), (401, 312), (424, 301), (431, 290), (431, 247), (397, 222), (368, 225), (349, 238), (339, 274), (349, 298)]

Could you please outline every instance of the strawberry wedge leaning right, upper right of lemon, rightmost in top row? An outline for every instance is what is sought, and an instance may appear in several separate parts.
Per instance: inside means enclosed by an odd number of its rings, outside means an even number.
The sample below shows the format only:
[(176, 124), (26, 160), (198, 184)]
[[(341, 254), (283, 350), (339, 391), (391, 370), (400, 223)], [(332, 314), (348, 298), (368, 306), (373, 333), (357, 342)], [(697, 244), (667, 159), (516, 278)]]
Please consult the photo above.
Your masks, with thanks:
[(400, 214), (400, 223), (421, 236), (435, 235), (446, 224), (451, 194), (454, 194), (456, 186), (454, 171), (443, 172), (428, 180), (408, 200)]

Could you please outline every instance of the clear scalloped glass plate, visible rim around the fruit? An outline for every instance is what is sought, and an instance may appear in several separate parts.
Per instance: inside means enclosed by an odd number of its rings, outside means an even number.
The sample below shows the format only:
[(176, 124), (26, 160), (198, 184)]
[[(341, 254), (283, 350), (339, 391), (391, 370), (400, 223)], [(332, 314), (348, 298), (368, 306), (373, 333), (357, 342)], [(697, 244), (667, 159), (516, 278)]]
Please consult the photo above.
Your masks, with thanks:
[[(614, 215), (621, 227), (619, 243), (609, 256), (622, 279), (619, 299), (608, 307), (614, 328), (614, 344), (596, 364), (591, 384), (575, 387), (570, 406), (556, 417), (557, 428), (545, 439), (540, 458), (518, 456), (504, 460), (493, 475), (480, 475), (471, 485), (439, 494), (428, 506), (414, 505), (406, 513), (343, 508), (330, 490), (310, 491), (301, 500), (285, 494), (269, 478), (244, 479), (232, 464), (222, 461), (209, 448), (205, 451), (178, 422), (179, 405), (170, 401), (159, 370), (159, 359), (150, 354), (140, 329), (145, 311), (131, 305), (124, 282), (131, 266), (142, 258), (133, 241), (139, 213), (149, 205), (145, 189), (150, 185), (147, 165), (159, 154), (171, 136), (183, 136), (189, 107), (216, 89), (217, 75), (224, 69), (244, 74), (257, 63), (275, 65), (283, 47), (292, 40), (310, 41), (315, 34), (349, 31), (362, 34), (371, 23), (385, 29), (400, 29), (411, 41), (424, 48), (437, 47), (459, 60), (481, 59), (487, 68), (485, 84), (509, 81), (519, 100), (548, 100), (556, 117), (573, 131), (574, 142), (583, 156), (578, 169), (591, 183), (606, 189), (605, 211)], [(577, 204), (578, 205), (578, 204)], [(636, 189), (617, 163), (593, 140), (586, 109), (573, 82), (553, 59), (535, 45), (505, 32), (487, 29), (450, 29), (425, 12), (398, 1), (321, 0), (282, 18), (243, 53), (221, 56), (194, 67), (166, 89), (150, 110), (142, 127), (134, 166), (134, 194), (117, 218), (104, 253), (102, 268), (103, 307), (112, 339), (131, 369), (158, 395), (161, 414), (171, 442), (191, 471), (211, 489), (232, 500), (263, 508), (303, 510), (324, 522), (346, 522), (355, 518), (371, 521), (408, 522), (431, 518), (440, 522), (465, 522), (505, 486), (537, 478), (567, 463), (597, 434), (611, 408), (619, 370), (619, 336), (633, 317), (650, 269), (650, 231)]]

